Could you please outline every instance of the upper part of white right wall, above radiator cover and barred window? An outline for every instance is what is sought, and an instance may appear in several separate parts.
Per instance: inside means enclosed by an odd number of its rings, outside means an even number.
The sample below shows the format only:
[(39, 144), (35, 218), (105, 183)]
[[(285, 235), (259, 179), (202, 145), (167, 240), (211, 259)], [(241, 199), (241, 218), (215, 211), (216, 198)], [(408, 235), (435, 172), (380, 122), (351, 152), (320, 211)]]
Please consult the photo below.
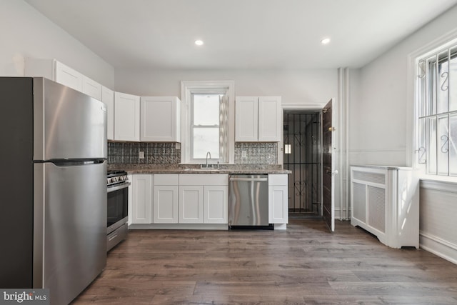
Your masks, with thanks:
[(350, 163), (411, 166), (413, 103), (408, 54), (457, 27), (457, 6), (367, 64), (353, 81)]

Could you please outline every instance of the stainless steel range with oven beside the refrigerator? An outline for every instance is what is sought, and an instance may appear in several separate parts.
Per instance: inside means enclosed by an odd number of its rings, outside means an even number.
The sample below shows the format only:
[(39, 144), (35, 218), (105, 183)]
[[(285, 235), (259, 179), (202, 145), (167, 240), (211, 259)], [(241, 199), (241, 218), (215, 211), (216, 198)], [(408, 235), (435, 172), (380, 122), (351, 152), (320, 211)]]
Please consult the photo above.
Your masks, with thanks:
[(106, 174), (107, 200), (107, 236), (106, 251), (127, 237), (129, 220), (129, 179), (126, 171), (108, 171)]

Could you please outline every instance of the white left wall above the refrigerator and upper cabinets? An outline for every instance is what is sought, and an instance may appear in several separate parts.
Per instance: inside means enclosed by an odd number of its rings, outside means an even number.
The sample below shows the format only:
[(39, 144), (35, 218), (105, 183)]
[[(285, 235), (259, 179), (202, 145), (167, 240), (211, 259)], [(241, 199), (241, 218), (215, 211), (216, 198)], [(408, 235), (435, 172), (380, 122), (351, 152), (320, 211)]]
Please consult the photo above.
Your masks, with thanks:
[(22, 0), (0, 1), (0, 76), (24, 76), (24, 58), (57, 59), (114, 89), (114, 67)]

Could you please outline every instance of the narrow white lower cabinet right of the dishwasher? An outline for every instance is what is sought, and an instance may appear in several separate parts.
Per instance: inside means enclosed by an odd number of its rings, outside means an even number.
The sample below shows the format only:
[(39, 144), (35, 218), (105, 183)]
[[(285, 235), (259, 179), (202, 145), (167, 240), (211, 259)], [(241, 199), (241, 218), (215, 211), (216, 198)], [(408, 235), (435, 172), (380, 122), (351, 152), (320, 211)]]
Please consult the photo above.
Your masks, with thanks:
[(288, 180), (287, 174), (268, 175), (268, 222), (288, 223)]

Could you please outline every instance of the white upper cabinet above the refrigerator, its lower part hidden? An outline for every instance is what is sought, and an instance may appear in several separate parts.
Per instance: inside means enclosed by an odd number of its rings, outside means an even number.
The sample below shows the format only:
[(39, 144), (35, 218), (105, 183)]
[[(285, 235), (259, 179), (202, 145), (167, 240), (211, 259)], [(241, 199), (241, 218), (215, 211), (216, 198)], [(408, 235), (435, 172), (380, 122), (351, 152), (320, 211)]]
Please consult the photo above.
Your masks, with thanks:
[(25, 76), (46, 77), (101, 101), (101, 84), (56, 59), (27, 58)]

